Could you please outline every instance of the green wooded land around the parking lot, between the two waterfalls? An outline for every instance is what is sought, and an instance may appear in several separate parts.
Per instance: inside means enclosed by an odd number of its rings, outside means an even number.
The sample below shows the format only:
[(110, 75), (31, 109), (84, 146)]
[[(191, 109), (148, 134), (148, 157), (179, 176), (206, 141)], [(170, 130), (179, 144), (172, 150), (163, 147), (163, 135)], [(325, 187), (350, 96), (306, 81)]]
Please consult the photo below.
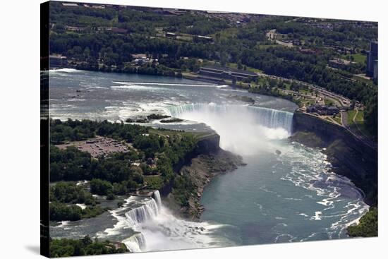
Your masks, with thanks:
[[(149, 185), (162, 188), (170, 184), (176, 193), (186, 193), (184, 198), (177, 196), (179, 203), (186, 204), (187, 184), (183, 186), (183, 176), (176, 173), (197, 147), (197, 140), (190, 133), (176, 131), (166, 138), (164, 134), (157, 134), (157, 130), (150, 132), (150, 128), (143, 126), (71, 119), (51, 120), (50, 132), (51, 221), (96, 217), (109, 208), (100, 207), (92, 194), (114, 200), (116, 195), (127, 195)], [(124, 140), (134, 148), (93, 158), (77, 147), (60, 149), (54, 145), (96, 135)], [(133, 162), (140, 165), (133, 166)], [(159, 183), (152, 180), (147, 183), (145, 176), (150, 175), (157, 176), (149, 179), (159, 179)], [(77, 181), (89, 181), (89, 188), (78, 186)], [(77, 204), (85, 204), (85, 208)]]

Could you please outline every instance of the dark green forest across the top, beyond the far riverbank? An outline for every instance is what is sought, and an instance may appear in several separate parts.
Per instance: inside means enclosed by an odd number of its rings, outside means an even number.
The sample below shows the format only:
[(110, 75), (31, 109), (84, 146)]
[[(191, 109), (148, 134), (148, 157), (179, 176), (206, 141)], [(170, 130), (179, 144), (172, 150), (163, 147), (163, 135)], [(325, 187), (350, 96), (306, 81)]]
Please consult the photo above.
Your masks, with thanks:
[[(327, 20), (333, 28), (322, 30), (314, 26), (315, 22), (289, 22), (289, 17), (280, 16), (253, 16), (241, 25), (200, 11), (171, 16), (152, 9), (65, 7), (55, 2), (51, 3), (51, 13), (50, 52), (67, 56), (76, 68), (182, 76), (198, 71), (198, 60), (222, 66), (241, 64), (269, 75), (320, 85), (362, 102), (366, 106), (365, 125), (377, 135), (377, 85), (352, 78), (355, 73), (364, 73), (365, 64), (354, 63), (337, 70), (327, 67), (330, 59), (342, 57), (336, 48), (365, 55), (370, 40), (377, 39), (377, 25), (360, 28), (360, 22)], [(83, 30), (68, 31), (66, 26)], [(268, 30), (277, 30), (303, 45), (287, 48), (273, 44), (266, 37)], [(181, 35), (181, 39), (164, 37), (165, 32)], [(195, 35), (207, 35), (212, 41), (194, 40)], [(302, 48), (312, 49), (313, 53), (303, 53)], [(157, 64), (134, 66), (132, 54), (138, 53), (157, 59)]]

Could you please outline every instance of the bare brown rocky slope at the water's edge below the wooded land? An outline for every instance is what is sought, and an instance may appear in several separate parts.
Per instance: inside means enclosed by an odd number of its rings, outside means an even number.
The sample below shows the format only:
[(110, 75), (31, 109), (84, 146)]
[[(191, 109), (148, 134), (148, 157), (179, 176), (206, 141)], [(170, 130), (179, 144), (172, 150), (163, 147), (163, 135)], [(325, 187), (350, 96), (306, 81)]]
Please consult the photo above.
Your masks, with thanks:
[(181, 217), (199, 221), (205, 208), (200, 204), (200, 198), (207, 184), (219, 174), (226, 174), (229, 171), (234, 171), (240, 166), (244, 166), (243, 158), (235, 155), (232, 152), (219, 148), (216, 152), (209, 154), (201, 154), (191, 159), (190, 164), (181, 168), (180, 174), (189, 176), (190, 180), (195, 184), (195, 191), (192, 193), (188, 206), (181, 207), (171, 192), (164, 198), (164, 205), (170, 210), (176, 212)]

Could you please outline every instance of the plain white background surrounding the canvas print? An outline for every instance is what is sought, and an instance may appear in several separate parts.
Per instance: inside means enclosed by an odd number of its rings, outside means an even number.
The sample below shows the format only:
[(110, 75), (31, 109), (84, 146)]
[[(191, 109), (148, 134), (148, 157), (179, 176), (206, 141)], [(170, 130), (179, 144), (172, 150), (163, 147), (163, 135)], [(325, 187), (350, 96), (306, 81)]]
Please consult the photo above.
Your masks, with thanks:
[[(40, 250), (40, 0), (1, 3), (1, 248), (0, 258), (39, 258)], [(378, 238), (315, 241), (237, 248), (109, 255), (97, 258), (382, 258), (387, 246), (387, 7), (384, 1), (334, 0), (104, 0), (102, 4), (238, 11), (379, 22), (379, 216)], [(383, 33), (385, 30), (385, 33)], [(386, 117), (386, 116), (385, 116)], [(5, 144), (5, 145), (4, 145)], [(384, 184), (385, 183), (385, 184)], [(95, 258), (95, 257), (84, 257)]]

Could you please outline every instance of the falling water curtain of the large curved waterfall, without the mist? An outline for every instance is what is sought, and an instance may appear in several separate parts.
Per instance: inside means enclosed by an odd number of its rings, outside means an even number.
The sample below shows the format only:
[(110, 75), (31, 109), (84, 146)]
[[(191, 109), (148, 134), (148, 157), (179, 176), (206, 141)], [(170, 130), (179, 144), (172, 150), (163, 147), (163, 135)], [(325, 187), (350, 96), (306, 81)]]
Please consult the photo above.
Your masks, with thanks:
[[(179, 106), (169, 107), (168, 112), (171, 116), (181, 119), (188, 119), (186, 116), (190, 113), (200, 112), (202, 114), (217, 113), (221, 116), (224, 114), (252, 114), (250, 119), (253, 119), (251, 123), (260, 124), (267, 128), (283, 128), (289, 134), (292, 130), (293, 113), (279, 111), (277, 109), (269, 109), (265, 107), (256, 107), (248, 105), (225, 105), (225, 104), (183, 104)], [(237, 118), (233, 119), (238, 119)], [(229, 118), (230, 119), (230, 118)], [(205, 121), (199, 121), (205, 122)]]

